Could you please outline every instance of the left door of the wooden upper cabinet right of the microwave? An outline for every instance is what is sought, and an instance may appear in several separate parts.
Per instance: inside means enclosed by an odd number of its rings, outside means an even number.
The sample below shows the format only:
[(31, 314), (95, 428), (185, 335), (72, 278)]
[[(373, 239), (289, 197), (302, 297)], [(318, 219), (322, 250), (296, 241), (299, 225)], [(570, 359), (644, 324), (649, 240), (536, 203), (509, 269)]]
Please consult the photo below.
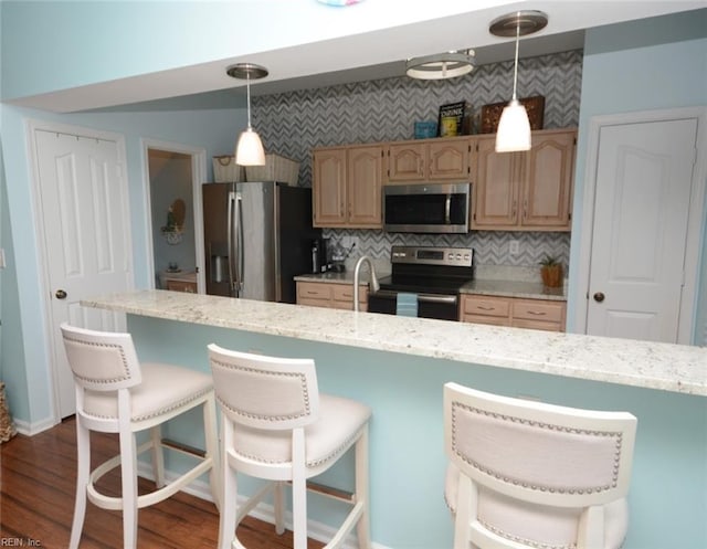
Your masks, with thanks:
[(518, 224), (520, 152), (496, 152), (496, 136), (477, 139), (472, 229), (514, 229)]

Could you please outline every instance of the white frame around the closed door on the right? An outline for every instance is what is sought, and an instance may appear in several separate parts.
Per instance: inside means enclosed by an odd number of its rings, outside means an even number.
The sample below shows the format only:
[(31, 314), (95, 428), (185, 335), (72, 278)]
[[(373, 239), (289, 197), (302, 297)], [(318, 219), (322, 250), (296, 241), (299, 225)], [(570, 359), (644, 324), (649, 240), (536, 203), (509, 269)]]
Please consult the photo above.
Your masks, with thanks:
[[(589, 142), (584, 169), (584, 196), (582, 201), (582, 226), (578, 263), (577, 307), (574, 326), (580, 334), (587, 334), (589, 309), (589, 275), (591, 267), (592, 232), (594, 225), (594, 198), (597, 193), (597, 166), (599, 163), (599, 138), (603, 127), (676, 119), (697, 119), (697, 144), (690, 203), (687, 224), (687, 245), (683, 265), (683, 294), (678, 320), (677, 340), (693, 342), (697, 314), (697, 284), (699, 275), (700, 241), (705, 215), (705, 180), (707, 179), (707, 107), (684, 107), (615, 115), (594, 116), (589, 123)], [(707, 288), (706, 288), (707, 289)]]

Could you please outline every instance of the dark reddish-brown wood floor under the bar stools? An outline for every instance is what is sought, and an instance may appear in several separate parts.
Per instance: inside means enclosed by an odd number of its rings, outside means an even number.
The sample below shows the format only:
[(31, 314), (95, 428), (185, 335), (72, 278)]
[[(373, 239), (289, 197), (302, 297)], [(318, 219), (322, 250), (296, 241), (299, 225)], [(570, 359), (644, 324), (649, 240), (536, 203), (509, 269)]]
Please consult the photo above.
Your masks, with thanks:
[[(92, 434), (94, 464), (117, 453), (117, 437)], [(0, 546), (65, 549), (68, 545), (76, 482), (76, 434), (73, 419), (34, 436), (17, 435), (0, 444)], [(119, 494), (118, 472), (101, 481), (102, 490)], [(140, 492), (154, 485), (140, 479)], [(214, 548), (219, 514), (209, 502), (179, 493), (138, 514), (138, 547)], [(292, 534), (277, 536), (270, 524), (247, 517), (239, 538), (249, 549), (292, 548)], [(123, 545), (119, 511), (87, 504), (82, 549)], [(321, 543), (309, 541), (309, 549)]]

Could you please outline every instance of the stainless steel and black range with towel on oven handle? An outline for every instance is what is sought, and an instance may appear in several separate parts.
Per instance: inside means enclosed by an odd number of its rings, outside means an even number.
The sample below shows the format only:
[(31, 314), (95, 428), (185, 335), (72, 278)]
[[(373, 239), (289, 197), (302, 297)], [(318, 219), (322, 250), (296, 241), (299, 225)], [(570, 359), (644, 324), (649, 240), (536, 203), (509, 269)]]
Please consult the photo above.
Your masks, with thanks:
[(368, 296), (369, 313), (394, 315), (398, 293), (418, 296), (418, 316), (458, 319), (460, 288), (474, 278), (471, 247), (393, 246), (392, 274)]

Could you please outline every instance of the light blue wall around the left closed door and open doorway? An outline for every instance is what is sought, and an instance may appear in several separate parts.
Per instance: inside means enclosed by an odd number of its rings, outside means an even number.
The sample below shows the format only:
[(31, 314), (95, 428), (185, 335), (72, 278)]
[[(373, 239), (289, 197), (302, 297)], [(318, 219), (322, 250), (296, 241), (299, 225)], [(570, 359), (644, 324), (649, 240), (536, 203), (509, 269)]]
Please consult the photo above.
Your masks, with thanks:
[[(200, 110), (126, 114), (55, 115), (39, 110), (2, 106), (2, 148), (7, 178), (8, 244), (14, 250), (17, 294), (2, 302), (2, 317), (10, 325), (3, 330), (2, 363), (7, 372), (8, 400), (13, 416), (21, 426), (38, 425), (52, 416), (52, 394), (43, 293), (40, 282), (39, 235), (35, 233), (33, 196), (27, 157), (25, 124), (29, 119), (70, 124), (78, 127), (114, 131), (125, 136), (127, 179), (129, 187), (130, 226), (133, 233), (133, 262), (137, 287), (148, 287), (147, 212), (144, 186), (141, 138), (151, 138), (203, 147), (207, 156), (229, 154), (238, 133), (245, 126), (245, 112)], [(209, 171), (211, 173), (211, 170)], [(209, 178), (211, 175), (209, 175)], [(6, 275), (8, 273), (6, 272)], [(12, 292), (11, 276), (3, 279), (3, 296)], [(12, 339), (9, 338), (12, 329)], [(31, 394), (28, 394), (28, 391)]]

